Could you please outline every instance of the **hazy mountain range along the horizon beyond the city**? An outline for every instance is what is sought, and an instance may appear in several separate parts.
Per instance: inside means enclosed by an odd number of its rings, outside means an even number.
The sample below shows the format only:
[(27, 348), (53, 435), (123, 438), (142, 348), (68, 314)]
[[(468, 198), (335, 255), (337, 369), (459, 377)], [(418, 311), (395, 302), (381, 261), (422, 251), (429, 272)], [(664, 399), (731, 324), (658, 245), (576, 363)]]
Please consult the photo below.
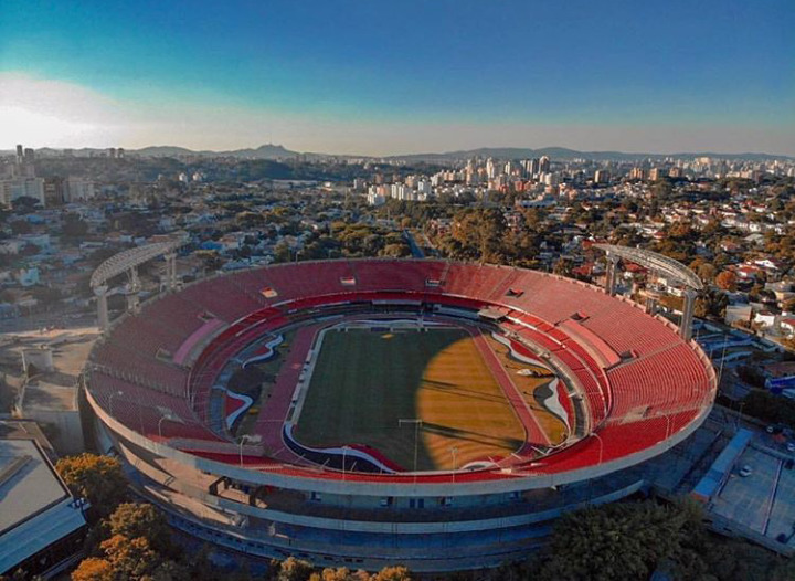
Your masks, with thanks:
[[(664, 158), (678, 158), (678, 159), (692, 159), (697, 157), (712, 157), (721, 159), (744, 159), (750, 161), (763, 161), (778, 159), (782, 161), (793, 161), (794, 157), (780, 156), (773, 154), (718, 154), (712, 151), (700, 151), (700, 152), (682, 152), (682, 154), (627, 154), (624, 151), (577, 151), (575, 149), (568, 149), (565, 147), (542, 147), (539, 149), (523, 148), (523, 147), (483, 147), (479, 149), (466, 149), (458, 151), (446, 151), (446, 152), (427, 152), (427, 154), (406, 154), (398, 156), (352, 156), (352, 155), (335, 155), (335, 154), (312, 154), (312, 152), (299, 152), (293, 151), (280, 145), (266, 144), (257, 147), (256, 149), (234, 149), (229, 151), (211, 151), (201, 150), (194, 151), (184, 147), (176, 146), (150, 146), (141, 149), (127, 149), (128, 154), (135, 154), (144, 157), (182, 157), (182, 156), (195, 156), (195, 157), (233, 157), (239, 159), (290, 159), (296, 156), (304, 156), (307, 160), (316, 161), (319, 159), (328, 158), (358, 158), (358, 159), (385, 159), (390, 161), (409, 161), (409, 162), (441, 162), (451, 161), (455, 159), (470, 159), (474, 157), (480, 158), (498, 158), (498, 159), (527, 159), (541, 156), (549, 156), (551, 159), (592, 159), (595, 161), (640, 161), (644, 159), (664, 159)], [(36, 154), (42, 157), (53, 157), (61, 155), (61, 149), (53, 148), (41, 148), (36, 150)], [(107, 152), (107, 149), (73, 149), (74, 156), (88, 156), (91, 154), (102, 155)], [(14, 155), (13, 150), (0, 150), (0, 156)]]

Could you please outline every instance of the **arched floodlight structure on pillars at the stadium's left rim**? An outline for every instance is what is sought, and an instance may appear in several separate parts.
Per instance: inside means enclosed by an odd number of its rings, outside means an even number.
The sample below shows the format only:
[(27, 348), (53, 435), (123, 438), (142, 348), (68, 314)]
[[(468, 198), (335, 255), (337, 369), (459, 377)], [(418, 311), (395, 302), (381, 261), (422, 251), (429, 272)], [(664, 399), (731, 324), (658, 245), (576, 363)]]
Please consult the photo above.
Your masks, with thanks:
[[(91, 287), (97, 297), (97, 318), (102, 330), (106, 330), (110, 323), (107, 307), (107, 292), (109, 288), (107, 282), (114, 276), (127, 273), (130, 278), (131, 290), (137, 296), (138, 266), (158, 256), (165, 256), (169, 289), (173, 290), (177, 287), (177, 249), (182, 244), (182, 241), (173, 240), (126, 250), (114, 254), (94, 271), (91, 277)], [(137, 299), (129, 300), (128, 308), (130, 310), (137, 308)]]

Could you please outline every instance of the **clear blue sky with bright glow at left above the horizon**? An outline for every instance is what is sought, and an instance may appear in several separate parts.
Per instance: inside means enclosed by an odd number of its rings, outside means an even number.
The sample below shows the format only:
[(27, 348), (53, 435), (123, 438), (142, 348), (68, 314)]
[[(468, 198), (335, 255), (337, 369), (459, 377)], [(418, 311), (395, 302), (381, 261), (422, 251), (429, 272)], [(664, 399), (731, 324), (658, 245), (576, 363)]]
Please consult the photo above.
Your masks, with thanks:
[(0, 147), (795, 155), (792, 0), (2, 0), (0, 14)]

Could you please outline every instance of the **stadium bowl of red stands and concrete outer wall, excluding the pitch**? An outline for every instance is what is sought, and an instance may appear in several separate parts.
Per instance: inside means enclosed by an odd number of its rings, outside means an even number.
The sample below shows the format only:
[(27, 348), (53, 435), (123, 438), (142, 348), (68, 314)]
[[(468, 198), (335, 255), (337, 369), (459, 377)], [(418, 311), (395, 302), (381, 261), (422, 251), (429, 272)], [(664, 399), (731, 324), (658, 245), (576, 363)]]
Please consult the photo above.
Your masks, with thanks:
[[(391, 469), (354, 443), (301, 447), (289, 427), (317, 353), (294, 338), (274, 392), (247, 402), (256, 429), (235, 439), (245, 398), (227, 390), (231, 372), (292, 330), (346, 318), (485, 329), (554, 371), (565, 437), (423, 472)], [(84, 378), (105, 446), (178, 528), (255, 557), (415, 571), (521, 559), (564, 511), (643, 489), (644, 463), (703, 422), (717, 388), (698, 345), (630, 300), (534, 271), (435, 260), (303, 262), (200, 281), (110, 324)]]

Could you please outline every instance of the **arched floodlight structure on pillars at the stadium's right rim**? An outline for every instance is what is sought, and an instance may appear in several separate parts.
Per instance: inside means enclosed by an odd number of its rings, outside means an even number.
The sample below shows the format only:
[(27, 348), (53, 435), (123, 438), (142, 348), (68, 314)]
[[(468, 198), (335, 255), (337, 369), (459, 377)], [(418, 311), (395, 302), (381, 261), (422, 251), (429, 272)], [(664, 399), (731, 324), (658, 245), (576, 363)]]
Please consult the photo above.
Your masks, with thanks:
[(618, 273), (618, 260), (624, 258), (655, 273), (664, 274), (668, 279), (685, 287), (685, 306), (682, 307), (679, 336), (685, 340), (692, 337), (693, 307), (698, 292), (703, 290), (701, 279), (690, 268), (679, 261), (669, 256), (644, 249), (618, 246), (615, 244), (594, 244), (595, 249), (604, 251), (607, 255), (607, 276), (605, 277), (605, 290), (608, 295), (615, 295), (615, 286)]

